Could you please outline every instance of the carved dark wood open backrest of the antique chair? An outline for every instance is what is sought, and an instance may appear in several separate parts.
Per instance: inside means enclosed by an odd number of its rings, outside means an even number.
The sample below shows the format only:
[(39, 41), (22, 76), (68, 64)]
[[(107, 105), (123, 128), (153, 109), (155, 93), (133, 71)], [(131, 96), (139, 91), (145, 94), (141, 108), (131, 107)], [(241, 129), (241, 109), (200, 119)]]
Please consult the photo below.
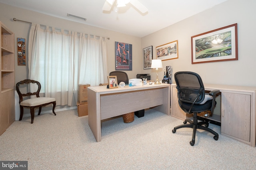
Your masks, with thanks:
[[(37, 89), (37, 91), (36, 92), (28, 92), (28, 93), (22, 93), (21, 91), (20, 91), (20, 85), (22, 85), (22, 84), (30, 84), (30, 83), (35, 83), (35, 84), (37, 84), (37, 86), (38, 86), (38, 89)], [(26, 79), (26, 80), (22, 80), (22, 81), (20, 81), (20, 82), (18, 82), (17, 84), (16, 84), (16, 90), (17, 90), (17, 93), (18, 93), (18, 95), (19, 95), (19, 98), (20, 98), (20, 102), (22, 102), (23, 101), (23, 97), (26, 97), (26, 96), (33, 96), (33, 95), (36, 95), (36, 97), (37, 98), (39, 98), (40, 96), (39, 96), (39, 92), (40, 92), (40, 90), (41, 90), (41, 84), (40, 84), (40, 82), (38, 82), (38, 81), (36, 81), (36, 80), (29, 80), (29, 79)]]

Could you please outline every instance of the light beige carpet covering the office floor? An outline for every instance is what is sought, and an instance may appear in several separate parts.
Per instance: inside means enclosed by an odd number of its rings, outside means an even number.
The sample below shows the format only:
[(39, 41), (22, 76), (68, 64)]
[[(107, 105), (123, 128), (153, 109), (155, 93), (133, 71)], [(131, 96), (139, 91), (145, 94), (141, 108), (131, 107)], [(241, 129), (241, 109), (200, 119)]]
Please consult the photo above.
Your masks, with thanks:
[[(118, 111), (118, 110), (117, 110)], [(29, 170), (255, 170), (256, 148), (220, 134), (192, 129), (152, 109), (132, 123), (122, 117), (102, 122), (102, 141), (96, 142), (88, 116), (77, 110), (45, 113), (15, 121), (0, 136), (0, 160), (27, 160)]]

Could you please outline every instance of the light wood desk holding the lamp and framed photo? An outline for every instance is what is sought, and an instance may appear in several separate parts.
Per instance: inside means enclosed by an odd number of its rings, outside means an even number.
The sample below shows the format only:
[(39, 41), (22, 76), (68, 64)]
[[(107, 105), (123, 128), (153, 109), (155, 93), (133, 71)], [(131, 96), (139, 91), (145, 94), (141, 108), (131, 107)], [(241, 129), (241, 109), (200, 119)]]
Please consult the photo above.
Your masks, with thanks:
[(101, 141), (101, 120), (149, 107), (170, 115), (170, 84), (88, 87), (88, 121), (97, 142)]

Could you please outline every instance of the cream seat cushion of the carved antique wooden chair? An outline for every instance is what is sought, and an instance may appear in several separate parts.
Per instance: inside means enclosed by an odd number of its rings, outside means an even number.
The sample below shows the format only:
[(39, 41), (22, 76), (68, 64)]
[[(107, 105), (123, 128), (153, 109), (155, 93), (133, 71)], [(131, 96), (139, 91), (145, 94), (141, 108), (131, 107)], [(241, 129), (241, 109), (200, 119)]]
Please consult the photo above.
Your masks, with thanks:
[(32, 99), (24, 100), (20, 103), (20, 105), (21, 106), (39, 106), (41, 104), (46, 104), (54, 101), (56, 101), (55, 98), (40, 97), (40, 98), (32, 98)]

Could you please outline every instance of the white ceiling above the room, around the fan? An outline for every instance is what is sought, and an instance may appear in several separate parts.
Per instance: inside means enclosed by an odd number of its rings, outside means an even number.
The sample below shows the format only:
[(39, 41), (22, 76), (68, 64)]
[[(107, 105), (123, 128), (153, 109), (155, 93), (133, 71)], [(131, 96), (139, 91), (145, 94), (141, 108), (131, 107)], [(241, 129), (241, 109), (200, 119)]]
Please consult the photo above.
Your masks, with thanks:
[[(118, 12), (103, 11), (105, 0), (0, 0), (4, 4), (25, 8), (58, 18), (72, 20), (136, 37), (144, 37), (177, 23), (226, 0), (139, 0), (148, 12), (142, 14), (128, 4)], [(86, 18), (86, 21), (67, 17), (67, 13)], [(18, 20), (19, 18), (13, 16)]]

